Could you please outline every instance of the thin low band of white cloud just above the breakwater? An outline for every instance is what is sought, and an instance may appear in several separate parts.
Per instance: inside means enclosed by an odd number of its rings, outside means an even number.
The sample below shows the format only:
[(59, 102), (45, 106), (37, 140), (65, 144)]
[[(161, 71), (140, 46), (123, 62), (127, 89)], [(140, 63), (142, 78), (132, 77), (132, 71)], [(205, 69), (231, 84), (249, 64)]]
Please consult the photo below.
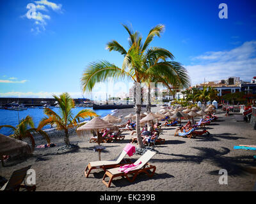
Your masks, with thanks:
[[(52, 95), (55, 94), (60, 96), (63, 92), (0, 92), (0, 97), (17, 97), (17, 98), (53, 98)], [(81, 92), (68, 92), (71, 98), (82, 98)]]

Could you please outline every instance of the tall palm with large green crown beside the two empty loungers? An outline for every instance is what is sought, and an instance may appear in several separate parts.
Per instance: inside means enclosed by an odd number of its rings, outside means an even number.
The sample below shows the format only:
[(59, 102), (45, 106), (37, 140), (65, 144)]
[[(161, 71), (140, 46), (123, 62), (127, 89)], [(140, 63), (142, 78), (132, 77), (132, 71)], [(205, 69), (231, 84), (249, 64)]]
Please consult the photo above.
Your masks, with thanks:
[[(106, 82), (109, 78), (129, 78), (134, 82), (134, 88), (140, 89), (142, 82), (147, 82), (148, 78), (153, 78), (157, 82), (163, 82), (166, 87), (169, 84), (189, 84), (189, 77), (179, 62), (174, 62), (171, 52), (164, 48), (153, 47), (148, 48), (150, 42), (155, 36), (160, 36), (163, 32), (164, 25), (156, 25), (153, 27), (142, 43), (142, 37), (136, 31), (135, 33), (127, 25), (123, 25), (129, 34), (129, 50), (126, 51), (122, 45), (113, 40), (107, 44), (109, 51), (115, 50), (124, 55), (122, 68), (118, 68), (115, 64), (108, 61), (92, 62), (85, 69), (81, 84), (83, 92), (92, 91), (97, 82)], [(143, 148), (143, 142), (140, 137), (140, 112), (141, 101), (135, 101), (136, 111), (136, 133), (138, 145)]]

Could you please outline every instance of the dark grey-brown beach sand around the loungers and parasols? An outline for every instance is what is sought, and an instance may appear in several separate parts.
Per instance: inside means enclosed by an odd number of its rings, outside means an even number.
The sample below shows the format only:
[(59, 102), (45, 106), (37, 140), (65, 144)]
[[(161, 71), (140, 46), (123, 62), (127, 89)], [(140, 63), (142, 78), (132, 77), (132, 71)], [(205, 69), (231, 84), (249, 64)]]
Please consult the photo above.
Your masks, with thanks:
[[(157, 107), (152, 108), (153, 112), (155, 110)], [(129, 112), (134, 113), (134, 110), (118, 110), (115, 115), (124, 117)], [(256, 153), (233, 147), (256, 145), (256, 131), (249, 122), (236, 122), (234, 115), (225, 117), (223, 112), (216, 115), (218, 121), (207, 126), (209, 136), (181, 138), (173, 136), (175, 127), (164, 128), (161, 138), (166, 141), (154, 147), (159, 154), (150, 160), (156, 166), (151, 179), (141, 174), (130, 183), (120, 177), (107, 188), (102, 183), (102, 170), (94, 170), (89, 178), (84, 177), (84, 168), (90, 161), (98, 160), (98, 153), (93, 152), (95, 143), (76, 134), (70, 136), (70, 141), (77, 143), (79, 149), (58, 154), (57, 149), (64, 145), (63, 138), (52, 136), (51, 142), (56, 143), (56, 147), (35, 149), (26, 161), (8, 161), (6, 167), (0, 167), (0, 175), (9, 179), (14, 170), (32, 165), (36, 171), (36, 191), (255, 191), (256, 175), (244, 168), (255, 166), (252, 157)], [(122, 141), (102, 143), (106, 147), (102, 160), (114, 159), (129, 142), (131, 135), (126, 132)], [(36, 140), (36, 145), (44, 143), (44, 140)], [(221, 169), (228, 172), (227, 185), (218, 182)]]

